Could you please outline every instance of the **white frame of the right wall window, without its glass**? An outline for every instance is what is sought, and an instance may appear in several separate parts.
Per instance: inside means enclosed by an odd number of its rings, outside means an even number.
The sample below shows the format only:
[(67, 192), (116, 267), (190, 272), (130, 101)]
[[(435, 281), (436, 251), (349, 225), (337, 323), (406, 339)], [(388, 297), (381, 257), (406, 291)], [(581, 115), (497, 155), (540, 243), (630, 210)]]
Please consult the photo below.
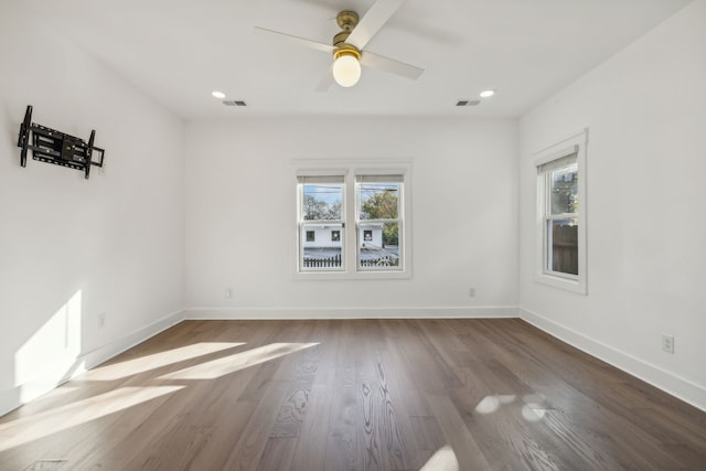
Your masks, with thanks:
[[(536, 174), (536, 231), (535, 231), (535, 281), (579, 295), (588, 293), (587, 267), (587, 193), (586, 193), (586, 154), (588, 146), (588, 128), (582, 129), (560, 141), (534, 153), (534, 170)], [(552, 214), (552, 162), (576, 154), (578, 167), (578, 211), (576, 213)], [(545, 170), (543, 170), (545, 168)], [(559, 167), (561, 168), (561, 167)], [(552, 221), (578, 220), (578, 274), (565, 274), (550, 269), (552, 251), (549, 249), (548, 225)]]

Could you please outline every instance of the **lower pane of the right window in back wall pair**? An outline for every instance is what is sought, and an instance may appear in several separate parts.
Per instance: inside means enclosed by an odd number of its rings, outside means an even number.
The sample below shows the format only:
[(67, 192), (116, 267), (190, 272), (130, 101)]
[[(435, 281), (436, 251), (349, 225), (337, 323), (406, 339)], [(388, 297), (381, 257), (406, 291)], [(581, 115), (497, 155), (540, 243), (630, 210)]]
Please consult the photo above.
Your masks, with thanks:
[(399, 224), (361, 224), (359, 265), (372, 269), (399, 269)]

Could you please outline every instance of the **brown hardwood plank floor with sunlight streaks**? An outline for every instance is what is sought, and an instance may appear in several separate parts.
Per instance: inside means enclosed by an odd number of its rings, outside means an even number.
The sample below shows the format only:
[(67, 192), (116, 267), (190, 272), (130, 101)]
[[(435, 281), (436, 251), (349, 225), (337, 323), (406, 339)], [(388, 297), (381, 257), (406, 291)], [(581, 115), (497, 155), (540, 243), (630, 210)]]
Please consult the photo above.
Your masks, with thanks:
[(706, 413), (516, 319), (186, 321), (0, 418), (12, 471), (419, 470), (437, 451), (425, 470), (706, 470)]

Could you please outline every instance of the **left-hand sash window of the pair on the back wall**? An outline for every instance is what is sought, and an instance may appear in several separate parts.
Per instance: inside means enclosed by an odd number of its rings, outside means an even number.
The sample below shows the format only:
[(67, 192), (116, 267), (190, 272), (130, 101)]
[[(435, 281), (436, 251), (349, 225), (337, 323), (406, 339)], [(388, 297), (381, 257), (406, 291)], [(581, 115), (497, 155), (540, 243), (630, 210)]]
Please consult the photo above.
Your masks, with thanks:
[(345, 268), (343, 176), (300, 176), (298, 181), (299, 269), (341, 271)]

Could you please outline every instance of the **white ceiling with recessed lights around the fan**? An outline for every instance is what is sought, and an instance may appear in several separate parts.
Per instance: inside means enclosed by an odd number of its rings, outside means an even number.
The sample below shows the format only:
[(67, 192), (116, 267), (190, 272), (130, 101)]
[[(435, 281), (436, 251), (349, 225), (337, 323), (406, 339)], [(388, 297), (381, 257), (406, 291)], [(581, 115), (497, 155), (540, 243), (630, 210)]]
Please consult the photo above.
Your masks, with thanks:
[[(516, 117), (689, 0), (407, 0), (367, 50), (425, 68), (418, 81), (364, 69), (314, 88), (327, 53), (254, 26), (330, 43), (335, 14), (374, 0), (23, 0), (115, 73), (183, 119), (271, 115)], [(498, 94), (456, 107), (479, 92)], [(226, 107), (211, 96), (248, 106)]]

